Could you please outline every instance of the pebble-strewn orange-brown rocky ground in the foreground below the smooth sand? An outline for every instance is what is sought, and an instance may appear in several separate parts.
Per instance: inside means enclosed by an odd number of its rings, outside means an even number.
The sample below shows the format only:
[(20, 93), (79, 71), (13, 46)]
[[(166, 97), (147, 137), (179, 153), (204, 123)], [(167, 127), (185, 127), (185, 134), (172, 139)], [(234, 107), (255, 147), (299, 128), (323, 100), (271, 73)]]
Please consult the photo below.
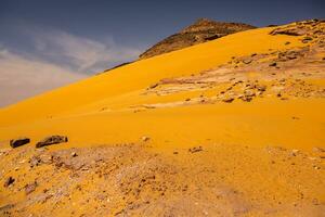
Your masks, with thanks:
[[(1, 216), (322, 216), (325, 150), (1, 149)], [(10, 162), (10, 164), (4, 164)], [(253, 181), (247, 181), (253, 180)], [(308, 180), (308, 181), (307, 181)]]

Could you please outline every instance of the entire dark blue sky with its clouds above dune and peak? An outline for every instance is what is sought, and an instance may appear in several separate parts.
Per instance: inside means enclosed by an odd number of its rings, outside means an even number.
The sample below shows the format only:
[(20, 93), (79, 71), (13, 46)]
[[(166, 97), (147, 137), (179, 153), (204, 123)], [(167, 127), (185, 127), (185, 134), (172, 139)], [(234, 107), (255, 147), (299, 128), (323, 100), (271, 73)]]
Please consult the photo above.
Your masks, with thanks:
[(0, 106), (135, 60), (199, 17), (325, 17), (324, 0), (0, 0)]

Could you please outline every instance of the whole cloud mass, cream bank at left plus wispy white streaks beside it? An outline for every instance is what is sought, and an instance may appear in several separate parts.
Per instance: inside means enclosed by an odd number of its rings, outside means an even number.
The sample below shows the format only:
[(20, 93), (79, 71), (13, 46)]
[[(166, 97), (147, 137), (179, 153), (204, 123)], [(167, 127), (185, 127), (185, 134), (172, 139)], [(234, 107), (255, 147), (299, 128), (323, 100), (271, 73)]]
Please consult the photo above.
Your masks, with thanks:
[(18, 31), (28, 49), (0, 44), (0, 106), (135, 60), (140, 53), (110, 37), (103, 42), (30, 25)]

